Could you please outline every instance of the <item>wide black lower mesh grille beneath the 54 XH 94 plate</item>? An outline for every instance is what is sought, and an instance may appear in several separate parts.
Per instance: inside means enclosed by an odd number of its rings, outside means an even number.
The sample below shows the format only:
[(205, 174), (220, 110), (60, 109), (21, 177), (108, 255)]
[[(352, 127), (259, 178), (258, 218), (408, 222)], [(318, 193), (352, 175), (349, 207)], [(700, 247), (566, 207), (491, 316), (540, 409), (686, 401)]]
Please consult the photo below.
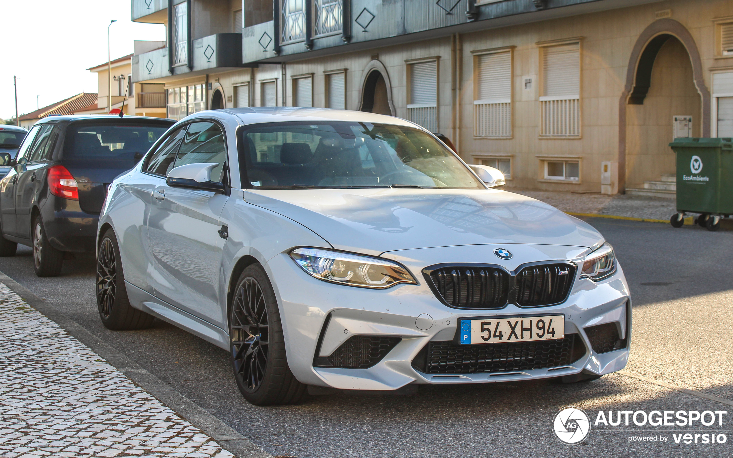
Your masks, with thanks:
[(432, 341), (413, 360), (426, 374), (480, 374), (566, 366), (583, 358), (586, 347), (578, 334), (564, 339), (504, 344), (456, 344)]

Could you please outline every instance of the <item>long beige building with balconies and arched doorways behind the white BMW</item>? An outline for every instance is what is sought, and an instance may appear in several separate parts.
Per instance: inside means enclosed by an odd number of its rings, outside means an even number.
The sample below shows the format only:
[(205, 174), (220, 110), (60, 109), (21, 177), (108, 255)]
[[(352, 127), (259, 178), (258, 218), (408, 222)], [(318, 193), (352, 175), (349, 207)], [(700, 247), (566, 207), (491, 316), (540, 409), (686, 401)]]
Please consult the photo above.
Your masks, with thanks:
[(509, 188), (607, 193), (664, 194), (675, 136), (733, 136), (727, 0), (147, 3), (133, 20), (172, 26), (165, 48), (133, 56), (133, 80), (164, 84), (170, 117), (392, 114)]

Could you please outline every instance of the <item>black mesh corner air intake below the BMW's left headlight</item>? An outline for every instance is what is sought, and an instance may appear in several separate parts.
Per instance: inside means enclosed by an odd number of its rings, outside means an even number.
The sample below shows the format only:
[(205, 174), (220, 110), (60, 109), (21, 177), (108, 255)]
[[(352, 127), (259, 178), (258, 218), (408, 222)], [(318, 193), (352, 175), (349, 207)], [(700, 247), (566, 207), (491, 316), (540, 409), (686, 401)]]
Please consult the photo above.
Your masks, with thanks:
[(401, 337), (353, 336), (329, 356), (317, 356), (314, 367), (367, 369), (382, 361)]

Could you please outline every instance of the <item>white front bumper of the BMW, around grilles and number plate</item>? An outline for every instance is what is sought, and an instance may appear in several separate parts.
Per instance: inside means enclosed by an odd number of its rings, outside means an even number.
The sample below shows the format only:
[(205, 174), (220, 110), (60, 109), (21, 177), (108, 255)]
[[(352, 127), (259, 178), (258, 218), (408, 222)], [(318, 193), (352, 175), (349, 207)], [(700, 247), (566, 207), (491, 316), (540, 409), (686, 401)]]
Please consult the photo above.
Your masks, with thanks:
[[(501, 260), (494, 248), (508, 248), (515, 256)], [(410, 383), (487, 383), (530, 380), (563, 375), (608, 374), (623, 369), (630, 343), (630, 298), (621, 270), (594, 283), (576, 278), (570, 295), (557, 306), (524, 309), (509, 304), (499, 310), (452, 309), (435, 298), (421, 276), (428, 265), (442, 262), (492, 263), (513, 270), (526, 262), (569, 259), (580, 262), (587, 248), (556, 245), (471, 245), (394, 251), (383, 257), (401, 262), (419, 284), (375, 290), (329, 284), (312, 278), (279, 254), (268, 262), (270, 278), (279, 296), (291, 371), (302, 383), (356, 390), (396, 390)], [(457, 318), (564, 314), (565, 335), (578, 334), (585, 351), (572, 363), (542, 369), (506, 372), (427, 374), (413, 365), (430, 341), (452, 341)], [(597, 353), (583, 328), (616, 323), (625, 348)], [(352, 336), (394, 336), (401, 340), (378, 363), (367, 369), (314, 367), (316, 358), (331, 355)], [(418, 365), (419, 366), (419, 365)]]

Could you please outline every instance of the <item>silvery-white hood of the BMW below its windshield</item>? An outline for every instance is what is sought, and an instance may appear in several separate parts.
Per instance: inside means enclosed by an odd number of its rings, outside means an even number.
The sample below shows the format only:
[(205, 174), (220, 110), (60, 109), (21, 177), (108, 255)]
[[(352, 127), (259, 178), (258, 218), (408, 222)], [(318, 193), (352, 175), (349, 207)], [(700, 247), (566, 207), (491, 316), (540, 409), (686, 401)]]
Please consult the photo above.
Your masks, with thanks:
[(451, 245), (532, 243), (596, 248), (603, 236), (544, 202), (498, 190), (245, 190), (334, 248), (364, 254)]

